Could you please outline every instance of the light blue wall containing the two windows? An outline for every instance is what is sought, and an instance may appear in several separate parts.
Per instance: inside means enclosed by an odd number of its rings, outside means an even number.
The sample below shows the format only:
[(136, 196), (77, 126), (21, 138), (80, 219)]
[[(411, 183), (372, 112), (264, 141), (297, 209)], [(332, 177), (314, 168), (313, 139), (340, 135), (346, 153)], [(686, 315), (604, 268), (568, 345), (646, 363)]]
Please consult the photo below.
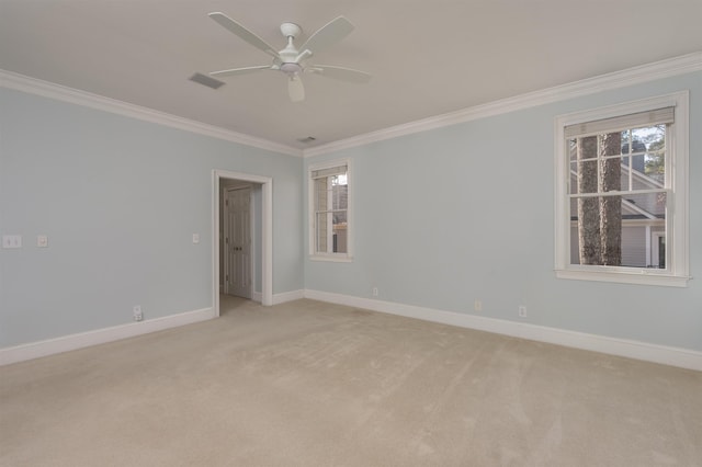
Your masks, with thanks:
[[(702, 73), (466, 122), (336, 153), (353, 163), (352, 263), (305, 261), (307, 289), (702, 351), (687, 288), (557, 280), (554, 118), (690, 90), (690, 265), (702, 274)], [(305, 205), (305, 209), (307, 206)], [(305, 225), (307, 235), (307, 225)]]

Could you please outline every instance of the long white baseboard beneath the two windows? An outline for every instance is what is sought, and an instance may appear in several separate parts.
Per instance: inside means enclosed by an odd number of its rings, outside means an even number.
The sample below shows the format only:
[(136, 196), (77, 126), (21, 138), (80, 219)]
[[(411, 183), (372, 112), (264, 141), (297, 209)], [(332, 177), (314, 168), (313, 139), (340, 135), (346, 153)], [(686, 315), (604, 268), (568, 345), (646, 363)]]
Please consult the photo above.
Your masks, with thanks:
[(702, 352), (392, 301), (305, 291), (305, 298), (702, 372)]

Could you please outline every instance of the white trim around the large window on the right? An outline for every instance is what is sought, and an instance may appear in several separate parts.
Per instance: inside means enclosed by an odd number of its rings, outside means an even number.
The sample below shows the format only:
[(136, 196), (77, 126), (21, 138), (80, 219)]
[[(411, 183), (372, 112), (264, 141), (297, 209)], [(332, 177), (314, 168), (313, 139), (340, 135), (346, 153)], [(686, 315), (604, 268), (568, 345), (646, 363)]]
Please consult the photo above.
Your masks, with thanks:
[[(625, 284), (661, 285), (687, 287), (690, 277), (689, 265), (689, 91), (676, 92), (657, 98), (644, 99), (601, 109), (576, 112), (556, 117), (555, 138), (555, 272), (559, 278), (581, 281), (603, 281)], [(565, 127), (568, 125), (611, 118), (650, 110), (675, 106), (675, 124), (667, 136), (673, 161), (666, 161), (670, 186), (675, 198), (669, 200), (672, 213), (666, 221), (670, 235), (670, 267), (666, 271), (637, 267), (582, 266), (570, 264), (570, 206), (568, 202), (569, 163), (566, 160)], [(667, 158), (669, 159), (669, 158)]]

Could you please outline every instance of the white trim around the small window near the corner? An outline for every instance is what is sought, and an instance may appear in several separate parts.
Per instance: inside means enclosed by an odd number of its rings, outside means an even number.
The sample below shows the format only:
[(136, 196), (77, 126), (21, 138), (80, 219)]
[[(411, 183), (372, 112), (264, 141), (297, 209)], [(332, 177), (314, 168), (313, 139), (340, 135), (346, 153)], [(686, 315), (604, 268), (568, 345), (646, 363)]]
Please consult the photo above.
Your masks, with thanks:
[[(319, 253), (315, 247), (315, 184), (312, 182), (312, 173), (315, 170), (331, 169), (332, 167), (347, 166), (348, 207), (347, 207), (347, 252), (346, 253)], [(309, 259), (313, 261), (331, 261), (348, 263), (353, 261), (353, 169), (351, 159), (335, 159), (326, 162), (310, 164), (307, 168), (307, 209), (309, 213)]]

